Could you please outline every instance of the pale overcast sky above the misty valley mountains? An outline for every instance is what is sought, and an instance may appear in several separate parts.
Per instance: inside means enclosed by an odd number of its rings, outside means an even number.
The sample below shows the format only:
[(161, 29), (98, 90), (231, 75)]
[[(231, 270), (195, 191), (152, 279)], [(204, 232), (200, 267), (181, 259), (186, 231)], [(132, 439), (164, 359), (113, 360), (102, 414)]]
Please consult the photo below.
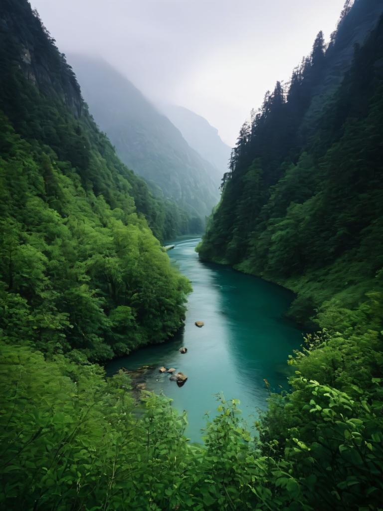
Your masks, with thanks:
[[(344, 0), (31, 0), (63, 53), (100, 55), (154, 102), (185, 106), (234, 145)], [(70, 63), (70, 62), (69, 62)], [(80, 84), (81, 85), (81, 84)]]

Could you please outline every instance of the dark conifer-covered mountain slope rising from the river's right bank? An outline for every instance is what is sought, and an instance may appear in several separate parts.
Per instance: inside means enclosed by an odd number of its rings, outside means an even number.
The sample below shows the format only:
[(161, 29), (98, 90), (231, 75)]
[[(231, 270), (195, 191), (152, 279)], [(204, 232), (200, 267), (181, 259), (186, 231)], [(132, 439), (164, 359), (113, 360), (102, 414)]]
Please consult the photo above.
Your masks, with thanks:
[[(377, 12), (383, 6), (372, 1), (346, 9), (329, 47), (320, 34), (288, 88), (277, 83), (266, 95), (252, 124), (241, 129), (221, 202), (199, 248), (204, 259), (299, 291), (293, 309), (300, 319), (318, 307), (330, 310), (330, 302), (323, 304), (338, 293), (344, 306), (356, 306), (378, 285), (381, 24), (366, 33)], [(356, 48), (342, 85), (333, 92), (333, 78), (326, 91), (334, 61), (351, 54), (344, 41), (362, 32), (368, 39)], [(319, 90), (327, 100), (314, 114)], [(330, 319), (321, 317), (328, 327)]]

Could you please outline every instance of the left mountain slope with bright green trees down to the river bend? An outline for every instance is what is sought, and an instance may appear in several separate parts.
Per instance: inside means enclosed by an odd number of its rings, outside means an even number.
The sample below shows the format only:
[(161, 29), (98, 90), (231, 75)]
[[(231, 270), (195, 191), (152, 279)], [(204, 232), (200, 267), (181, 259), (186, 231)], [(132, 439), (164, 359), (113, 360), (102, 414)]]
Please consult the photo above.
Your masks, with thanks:
[(167, 339), (188, 284), (147, 220), (165, 236), (176, 211), (117, 158), (30, 5), (3, 1), (0, 28), (3, 336), (78, 360)]

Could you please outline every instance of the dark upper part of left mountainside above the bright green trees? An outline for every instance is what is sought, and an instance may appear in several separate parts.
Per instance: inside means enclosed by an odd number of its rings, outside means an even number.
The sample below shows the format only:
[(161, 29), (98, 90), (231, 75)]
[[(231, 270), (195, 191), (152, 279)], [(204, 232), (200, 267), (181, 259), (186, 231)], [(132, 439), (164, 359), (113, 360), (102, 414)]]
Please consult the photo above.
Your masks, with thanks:
[[(38, 144), (63, 172), (69, 173), (72, 167), (85, 190), (102, 194), (112, 209), (124, 211), (135, 204), (162, 241), (200, 232), (200, 219), (186, 214), (173, 201), (154, 195), (147, 183), (117, 158), (89, 114), (71, 66), (25, 0), (3, 2), (0, 69), (0, 110), (18, 134), (33, 147)], [(3, 141), (2, 150), (7, 147)], [(49, 162), (44, 181), (50, 200), (59, 208), (61, 198)]]

